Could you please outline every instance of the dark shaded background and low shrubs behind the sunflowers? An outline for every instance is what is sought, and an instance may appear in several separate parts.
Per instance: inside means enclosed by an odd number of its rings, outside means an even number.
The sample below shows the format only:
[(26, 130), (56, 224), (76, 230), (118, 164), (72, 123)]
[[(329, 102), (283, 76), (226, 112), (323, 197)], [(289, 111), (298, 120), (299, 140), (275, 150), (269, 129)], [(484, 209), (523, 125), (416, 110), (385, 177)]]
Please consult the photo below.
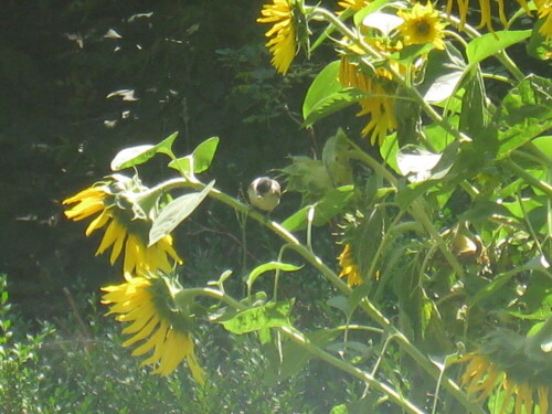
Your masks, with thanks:
[[(2, 413), (314, 413), (336, 404), (319, 380), (328, 375), (317, 374), (328, 370), (322, 363), (293, 384), (259, 389), (266, 362), (247, 339), (225, 335), (202, 339), (216, 349), (200, 355), (215, 373), (204, 395), (194, 393), (185, 371), (169, 383), (147, 374), (89, 296), (119, 276), (105, 257), (94, 257), (98, 236), (84, 238), (60, 205), (108, 173), (119, 149), (176, 130), (182, 152), (222, 137), (211, 173), (234, 194), (253, 177), (283, 168), (286, 156), (317, 148), (296, 114), (317, 64), (298, 65), (285, 78), (276, 74), (264, 28), (255, 23), (261, 7), (251, 0), (2, 1)], [(162, 174), (156, 166), (148, 172), (152, 180)], [(290, 197), (275, 214), (285, 216), (297, 203)], [(240, 263), (235, 217), (216, 209), (194, 215), (176, 236), (177, 248), (185, 246), (187, 283), (204, 284)], [(270, 244), (263, 232), (257, 236), (261, 243), (248, 244), (256, 258)], [(310, 293), (320, 293), (316, 276)], [(320, 399), (320, 390), (328, 396)]]

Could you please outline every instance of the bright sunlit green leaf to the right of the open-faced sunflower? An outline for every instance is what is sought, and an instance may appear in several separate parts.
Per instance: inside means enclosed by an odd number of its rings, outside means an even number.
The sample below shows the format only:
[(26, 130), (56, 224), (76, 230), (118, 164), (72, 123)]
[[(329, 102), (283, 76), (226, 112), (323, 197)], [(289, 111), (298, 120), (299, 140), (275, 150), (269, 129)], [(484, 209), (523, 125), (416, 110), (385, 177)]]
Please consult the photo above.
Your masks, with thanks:
[(487, 33), (469, 42), (466, 49), (468, 61), (471, 65), (492, 56), (495, 53), (519, 43), (531, 35), (530, 30), (498, 31)]

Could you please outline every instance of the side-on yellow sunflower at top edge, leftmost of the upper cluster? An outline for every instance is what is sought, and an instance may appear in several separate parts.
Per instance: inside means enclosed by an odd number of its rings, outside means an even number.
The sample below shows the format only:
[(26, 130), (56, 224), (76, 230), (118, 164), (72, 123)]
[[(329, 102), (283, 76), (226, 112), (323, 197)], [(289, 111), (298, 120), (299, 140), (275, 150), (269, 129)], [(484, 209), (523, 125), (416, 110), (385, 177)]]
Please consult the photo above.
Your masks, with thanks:
[(294, 20), (293, 0), (273, 0), (261, 11), (259, 23), (274, 23), (265, 35), (273, 36), (266, 46), (273, 54), (272, 64), (276, 71), (285, 75), (297, 52), (297, 28)]

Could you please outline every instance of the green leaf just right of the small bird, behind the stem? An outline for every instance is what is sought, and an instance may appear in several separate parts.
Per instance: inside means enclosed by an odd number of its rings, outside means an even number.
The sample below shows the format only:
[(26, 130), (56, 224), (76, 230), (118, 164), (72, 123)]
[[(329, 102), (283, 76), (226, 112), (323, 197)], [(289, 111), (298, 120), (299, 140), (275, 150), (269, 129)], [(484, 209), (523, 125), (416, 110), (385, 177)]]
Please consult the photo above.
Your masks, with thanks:
[(329, 220), (339, 214), (349, 203), (353, 195), (353, 185), (343, 185), (331, 190), (315, 204), (307, 205), (287, 217), (284, 223), (282, 223), (282, 226), (288, 232), (305, 229), (307, 226), (308, 214), (311, 209), (315, 209), (312, 224), (316, 226), (326, 224)]

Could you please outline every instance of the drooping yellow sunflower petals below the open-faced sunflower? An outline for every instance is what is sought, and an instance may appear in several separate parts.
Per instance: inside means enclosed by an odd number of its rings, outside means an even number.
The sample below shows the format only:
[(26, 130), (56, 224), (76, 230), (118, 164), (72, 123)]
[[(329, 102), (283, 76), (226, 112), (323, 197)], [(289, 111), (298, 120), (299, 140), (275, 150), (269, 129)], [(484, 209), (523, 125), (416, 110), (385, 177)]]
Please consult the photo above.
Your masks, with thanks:
[(388, 134), (396, 129), (397, 123), (394, 114), (394, 99), (386, 91), (391, 86), (391, 74), (384, 68), (379, 68), (372, 76), (365, 74), (353, 64), (349, 56), (341, 56), (339, 67), (339, 82), (344, 87), (354, 87), (371, 94), (370, 97), (359, 102), (361, 110), (357, 116), (370, 116), (370, 121), (362, 129), (362, 136), (370, 136), (370, 142), (381, 145)]

